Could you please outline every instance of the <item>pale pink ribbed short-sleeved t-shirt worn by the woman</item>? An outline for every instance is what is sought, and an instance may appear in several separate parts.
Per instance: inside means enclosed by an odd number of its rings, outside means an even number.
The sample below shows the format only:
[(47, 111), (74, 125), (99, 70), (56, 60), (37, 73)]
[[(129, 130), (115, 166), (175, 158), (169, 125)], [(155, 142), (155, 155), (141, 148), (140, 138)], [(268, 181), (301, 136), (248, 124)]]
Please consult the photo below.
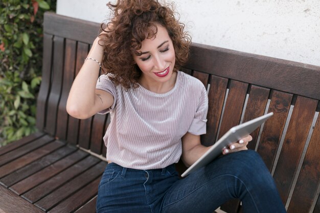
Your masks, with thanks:
[(175, 86), (155, 93), (139, 86), (115, 86), (107, 75), (97, 81), (97, 89), (112, 94), (113, 105), (99, 113), (110, 113), (103, 137), (107, 160), (122, 167), (161, 169), (178, 162), (181, 137), (187, 132), (205, 134), (208, 94), (196, 78), (178, 71)]

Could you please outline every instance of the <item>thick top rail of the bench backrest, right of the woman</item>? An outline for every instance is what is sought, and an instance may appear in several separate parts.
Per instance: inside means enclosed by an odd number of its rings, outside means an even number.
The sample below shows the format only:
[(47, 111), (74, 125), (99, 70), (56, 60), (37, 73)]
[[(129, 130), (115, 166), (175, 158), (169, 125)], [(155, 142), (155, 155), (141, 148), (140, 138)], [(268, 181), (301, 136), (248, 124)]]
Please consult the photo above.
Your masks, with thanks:
[(186, 68), (320, 99), (320, 66), (198, 43), (193, 43), (190, 51)]

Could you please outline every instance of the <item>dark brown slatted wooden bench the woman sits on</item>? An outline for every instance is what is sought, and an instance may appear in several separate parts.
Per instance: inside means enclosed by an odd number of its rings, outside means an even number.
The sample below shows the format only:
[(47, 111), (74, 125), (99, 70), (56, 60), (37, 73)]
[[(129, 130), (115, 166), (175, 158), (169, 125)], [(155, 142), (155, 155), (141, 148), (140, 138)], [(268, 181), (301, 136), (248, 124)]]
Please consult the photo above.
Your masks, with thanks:
[[(0, 212), (95, 212), (110, 117), (80, 121), (65, 105), (99, 27), (45, 13), (39, 132), (0, 149)], [(208, 87), (206, 146), (232, 126), (275, 113), (249, 148), (264, 159), (289, 213), (319, 213), (320, 67), (194, 43), (182, 70)], [(242, 212), (238, 200), (221, 209)]]

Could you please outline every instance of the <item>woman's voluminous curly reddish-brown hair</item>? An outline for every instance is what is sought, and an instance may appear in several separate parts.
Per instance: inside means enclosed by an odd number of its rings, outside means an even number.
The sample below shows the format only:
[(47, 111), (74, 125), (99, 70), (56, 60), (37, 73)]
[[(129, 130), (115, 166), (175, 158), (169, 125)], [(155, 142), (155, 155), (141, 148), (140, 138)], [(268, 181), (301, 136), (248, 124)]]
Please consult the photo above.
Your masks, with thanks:
[[(165, 27), (175, 51), (176, 72), (189, 57), (190, 35), (185, 25), (175, 18), (173, 3), (162, 6), (154, 0), (118, 0), (107, 4), (114, 17), (107, 24), (102, 23), (99, 44), (104, 46), (103, 72), (110, 80), (125, 89), (138, 87), (142, 72), (135, 64), (132, 54), (141, 53), (141, 42), (155, 37), (156, 24)], [(177, 17), (179, 15), (177, 14)]]

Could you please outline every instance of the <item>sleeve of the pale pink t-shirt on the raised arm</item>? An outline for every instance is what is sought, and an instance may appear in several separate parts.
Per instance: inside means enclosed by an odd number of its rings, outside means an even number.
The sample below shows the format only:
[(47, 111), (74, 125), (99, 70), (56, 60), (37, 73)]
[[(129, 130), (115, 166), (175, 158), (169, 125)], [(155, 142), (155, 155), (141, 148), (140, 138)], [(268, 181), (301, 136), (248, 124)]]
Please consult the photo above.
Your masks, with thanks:
[(99, 77), (99, 79), (97, 81), (96, 89), (101, 89), (101, 90), (107, 91), (113, 96), (112, 106), (110, 106), (109, 108), (104, 109), (98, 113), (99, 114), (106, 114), (106, 113), (112, 111), (115, 108), (116, 103), (117, 103), (117, 89), (116, 89), (115, 84), (112, 83), (112, 81), (109, 79), (109, 77), (107, 75), (102, 75)]

